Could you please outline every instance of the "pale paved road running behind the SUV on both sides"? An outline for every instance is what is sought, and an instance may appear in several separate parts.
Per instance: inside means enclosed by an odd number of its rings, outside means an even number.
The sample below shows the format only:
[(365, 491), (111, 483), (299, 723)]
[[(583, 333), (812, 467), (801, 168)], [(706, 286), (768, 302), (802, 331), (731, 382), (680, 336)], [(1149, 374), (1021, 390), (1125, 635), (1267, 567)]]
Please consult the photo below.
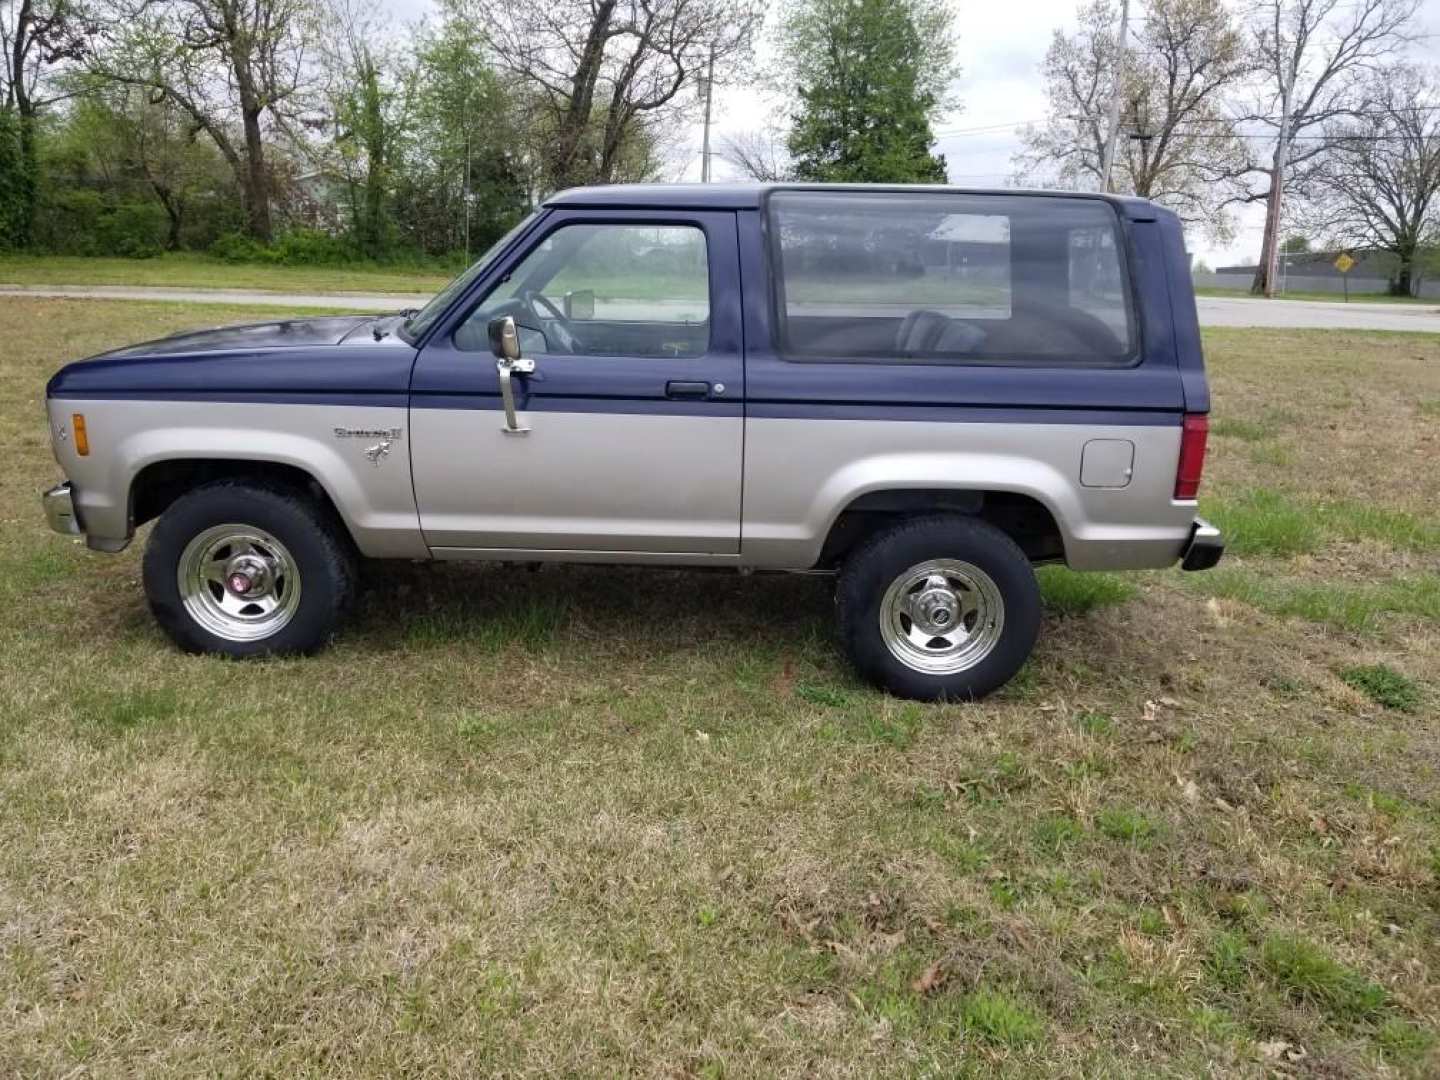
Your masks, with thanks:
[[(0, 285), (0, 297), (76, 297), (160, 300), (189, 304), (246, 304), (397, 311), (420, 307), (429, 294), (248, 292), (239, 289), (125, 288), (120, 285)], [(1344, 304), (1312, 300), (1243, 300), (1201, 297), (1200, 321), (1207, 327), (1312, 327), (1322, 330), (1420, 330), (1440, 334), (1440, 302)]]

